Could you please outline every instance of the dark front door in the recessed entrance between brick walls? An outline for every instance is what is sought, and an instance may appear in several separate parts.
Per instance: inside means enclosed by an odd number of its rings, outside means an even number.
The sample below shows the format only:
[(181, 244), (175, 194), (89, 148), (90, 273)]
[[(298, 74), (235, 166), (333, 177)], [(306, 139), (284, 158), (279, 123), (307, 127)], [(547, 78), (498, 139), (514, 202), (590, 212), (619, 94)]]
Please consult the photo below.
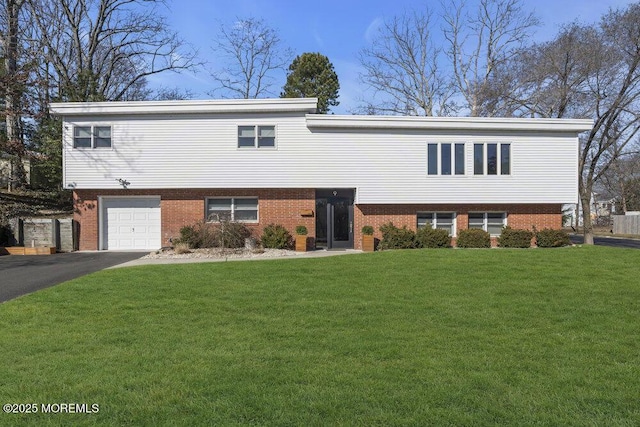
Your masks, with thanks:
[(316, 245), (353, 248), (353, 190), (316, 190)]

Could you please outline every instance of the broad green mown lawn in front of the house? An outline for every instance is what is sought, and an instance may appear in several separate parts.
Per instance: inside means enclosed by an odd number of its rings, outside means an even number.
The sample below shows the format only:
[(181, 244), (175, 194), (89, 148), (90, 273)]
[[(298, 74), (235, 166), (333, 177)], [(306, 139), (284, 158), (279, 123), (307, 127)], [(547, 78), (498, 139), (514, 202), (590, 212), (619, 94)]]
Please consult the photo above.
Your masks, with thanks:
[(640, 251), (103, 271), (0, 305), (0, 425), (638, 425)]

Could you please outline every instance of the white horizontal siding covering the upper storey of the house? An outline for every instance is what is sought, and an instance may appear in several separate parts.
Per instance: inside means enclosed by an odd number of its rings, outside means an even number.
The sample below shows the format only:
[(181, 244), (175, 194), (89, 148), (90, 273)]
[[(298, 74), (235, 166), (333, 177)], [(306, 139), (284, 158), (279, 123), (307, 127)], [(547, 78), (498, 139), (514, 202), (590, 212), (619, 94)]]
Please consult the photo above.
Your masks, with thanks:
[[(298, 113), (104, 116), (117, 144), (74, 150), (64, 132), (66, 188), (355, 188), (356, 203), (574, 203), (573, 132), (324, 129)], [(273, 126), (277, 149), (239, 149), (239, 127)], [(258, 132), (256, 130), (256, 132)], [(257, 135), (257, 134), (256, 134)], [(267, 136), (265, 136), (267, 137)], [(428, 144), (465, 141), (464, 175), (428, 175)], [(510, 175), (474, 175), (475, 143), (510, 144)], [(455, 150), (455, 149), (454, 149)], [(455, 157), (455, 156), (452, 156)], [(455, 168), (455, 166), (452, 166)], [(453, 171), (452, 171), (453, 172)]]

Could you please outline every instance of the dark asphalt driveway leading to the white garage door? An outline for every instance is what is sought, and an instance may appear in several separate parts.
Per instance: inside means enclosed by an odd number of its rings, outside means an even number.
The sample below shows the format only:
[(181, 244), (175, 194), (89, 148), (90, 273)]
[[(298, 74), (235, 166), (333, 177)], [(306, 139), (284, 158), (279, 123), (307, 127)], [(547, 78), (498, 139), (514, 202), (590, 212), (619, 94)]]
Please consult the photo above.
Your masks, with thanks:
[(146, 254), (147, 252), (73, 252), (0, 256), (0, 303), (138, 259)]

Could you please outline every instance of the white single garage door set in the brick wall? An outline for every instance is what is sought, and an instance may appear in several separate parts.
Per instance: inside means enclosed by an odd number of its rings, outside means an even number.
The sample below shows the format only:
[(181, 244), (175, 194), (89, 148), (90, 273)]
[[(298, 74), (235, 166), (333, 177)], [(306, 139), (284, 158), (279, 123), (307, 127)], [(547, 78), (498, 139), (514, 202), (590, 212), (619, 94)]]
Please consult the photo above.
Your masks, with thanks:
[(102, 248), (159, 249), (160, 198), (103, 198)]

